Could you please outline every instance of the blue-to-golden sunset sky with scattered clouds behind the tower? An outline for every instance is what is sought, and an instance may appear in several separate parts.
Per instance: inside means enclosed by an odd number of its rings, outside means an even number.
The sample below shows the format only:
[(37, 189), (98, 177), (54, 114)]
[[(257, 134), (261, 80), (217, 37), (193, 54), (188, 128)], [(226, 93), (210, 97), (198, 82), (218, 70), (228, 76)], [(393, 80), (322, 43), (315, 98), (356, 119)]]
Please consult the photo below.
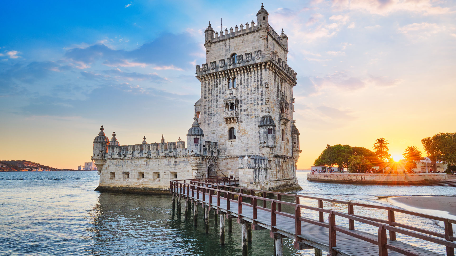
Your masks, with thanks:
[[(456, 3), (263, 1), (289, 37), (296, 126), (310, 168), (327, 144), (407, 146), (456, 127)], [(120, 144), (185, 138), (208, 21), (254, 20), (261, 2), (5, 1), (0, 160), (77, 169), (100, 125)]]

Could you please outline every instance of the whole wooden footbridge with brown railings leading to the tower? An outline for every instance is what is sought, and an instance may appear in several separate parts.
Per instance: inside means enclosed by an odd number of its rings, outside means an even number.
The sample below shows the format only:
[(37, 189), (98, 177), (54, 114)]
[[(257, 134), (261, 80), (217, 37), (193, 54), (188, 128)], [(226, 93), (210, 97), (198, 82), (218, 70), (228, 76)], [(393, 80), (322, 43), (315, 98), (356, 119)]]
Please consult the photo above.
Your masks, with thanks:
[[(252, 230), (262, 229), (270, 230), (270, 237), (274, 239), (276, 256), (283, 255), (282, 238), (285, 237), (294, 239), (294, 247), (297, 250), (314, 249), (316, 256), (321, 256), (321, 251), (329, 252), (329, 256), (455, 255), (456, 237), (453, 235), (453, 224), (456, 223), (456, 220), (388, 206), (246, 189), (237, 185), (237, 178), (173, 180), (170, 182), (173, 209), (177, 201), (177, 213), (180, 214), (181, 202), (184, 201), (185, 218), (187, 219), (190, 215), (191, 205), (193, 205), (193, 224), (197, 225), (197, 207), (202, 205), (206, 233), (209, 232), (209, 211), (217, 210), (216, 213), (220, 215), (221, 245), (225, 243), (225, 219), (228, 218), (228, 232), (230, 232), (232, 219), (236, 218), (242, 225), (243, 255), (247, 255), (247, 244), (251, 241)], [(282, 196), (294, 197), (295, 202), (283, 201)], [(317, 200), (318, 207), (300, 204), (300, 199)], [(325, 209), (324, 202), (347, 205), (347, 211)], [(388, 213), (388, 219), (356, 215), (353, 206), (385, 210)], [(314, 211), (318, 219), (302, 217), (301, 210)], [(444, 223), (445, 233), (399, 223), (394, 219), (396, 212), (441, 221)], [(329, 214), (326, 216), (326, 220), (324, 213)], [(420, 221), (418, 219), (417, 221)], [(377, 233), (357, 230), (355, 222), (374, 227), (377, 229)], [(446, 254), (439, 254), (396, 240), (396, 233), (413, 237), (415, 241), (421, 240), (445, 246)]]

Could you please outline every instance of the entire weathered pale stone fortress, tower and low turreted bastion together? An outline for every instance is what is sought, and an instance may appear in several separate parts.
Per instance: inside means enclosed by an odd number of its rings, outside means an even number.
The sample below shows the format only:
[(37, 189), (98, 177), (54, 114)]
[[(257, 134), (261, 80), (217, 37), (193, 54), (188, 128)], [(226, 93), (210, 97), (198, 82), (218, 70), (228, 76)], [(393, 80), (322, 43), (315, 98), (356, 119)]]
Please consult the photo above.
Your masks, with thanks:
[(290, 191), (296, 180), (299, 131), (293, 120), (296, 73), (286, 63), (288, 37), (277, 34), (262, 6), (254, 21), (205, 31), (206, 63), (196, 66), (201, 98), (177, 142), (120, 146), (103, 127), (93, 142), (98, 190), (156, 193), (171, 179), (239, 177), (240, 186)]

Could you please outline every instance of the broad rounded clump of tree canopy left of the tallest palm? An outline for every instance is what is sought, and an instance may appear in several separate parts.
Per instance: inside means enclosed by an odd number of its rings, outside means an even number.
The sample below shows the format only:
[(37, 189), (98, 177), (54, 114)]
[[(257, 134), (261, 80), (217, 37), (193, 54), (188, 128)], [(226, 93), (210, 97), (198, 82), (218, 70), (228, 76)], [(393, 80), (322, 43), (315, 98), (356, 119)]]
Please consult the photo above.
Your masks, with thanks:
[(351, 147), (350, 145), (337, 144), (334, 146), (327, 145), (320, 156), (315, 159), (314, 165), (338, 165), (339, 167), (347, 168), (349, 167), (351, 156), (362, 156), (362, 159), (367, 160), (373, 165), (381, 163), (381, 160), (378, 159), (372, 150), (363, 147)]

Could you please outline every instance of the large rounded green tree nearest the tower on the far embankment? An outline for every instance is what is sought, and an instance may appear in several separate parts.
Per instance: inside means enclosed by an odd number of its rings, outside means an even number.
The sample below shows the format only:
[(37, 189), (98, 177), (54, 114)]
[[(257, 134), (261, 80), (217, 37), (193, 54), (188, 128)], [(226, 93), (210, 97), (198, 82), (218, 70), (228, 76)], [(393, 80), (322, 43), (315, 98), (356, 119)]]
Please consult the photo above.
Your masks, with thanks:
[(352, 155), (352, 147), (349, 145), (337, 144), (330, 146), (329, 144), (321, 152), (320, 156), (315, 159), (314, 165), (328, 165), (339, 167), (348, 167), (348, 158)]

